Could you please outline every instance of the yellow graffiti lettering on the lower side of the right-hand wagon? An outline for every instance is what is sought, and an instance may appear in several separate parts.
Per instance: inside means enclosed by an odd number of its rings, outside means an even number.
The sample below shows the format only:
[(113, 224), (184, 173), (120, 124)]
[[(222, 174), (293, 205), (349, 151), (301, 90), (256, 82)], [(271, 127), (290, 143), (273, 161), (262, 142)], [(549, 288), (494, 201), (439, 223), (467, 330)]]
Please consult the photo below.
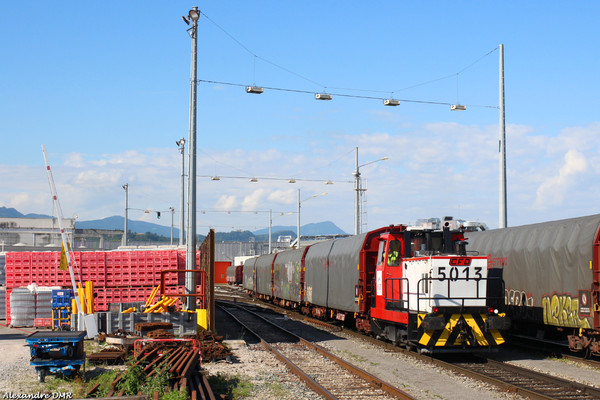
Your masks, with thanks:
[(590, 328), (587, 318), (579, 318), (579, 298), (568, 294), (542, 297), (544, 323), (572, 328)]

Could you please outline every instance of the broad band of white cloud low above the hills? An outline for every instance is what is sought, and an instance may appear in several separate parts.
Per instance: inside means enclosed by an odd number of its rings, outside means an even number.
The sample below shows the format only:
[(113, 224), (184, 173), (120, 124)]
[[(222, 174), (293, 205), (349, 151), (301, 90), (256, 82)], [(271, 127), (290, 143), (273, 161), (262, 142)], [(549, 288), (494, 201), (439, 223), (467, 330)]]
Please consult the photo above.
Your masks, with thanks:
[[(600, 212), (590, 201), (600, 196), (600, 185), (595, 184), (600, 182), (599, 136), (600, 124), (558, 132), (507, 125), (509, 226)], [(201, 225), (264, 226), (264, 214), (235, 211), (294, 212), (300, 188), (302, 198), (329, 192), (307, 203), (303, 223), (330, 220), (352, 232), (354, 186), (343, 182), (353, 181), (357, 146), (359, 163), (389, 157), (361, 168), (368, 189), (365, 220), (369, 228), (444, 215), (479, 220), (490, 227), (498, 220), (497, 126), (439, 122), (394, 131), (314, 135), (304, 145), (284, 150), (266, 143), (263, 151), (233, 143), (227, 150), (202, 149), (198, 174), (208, 178), (197, 180), (198, 209), (232, 213), (209, 212), (202, 216)], [(51, 162), (56, 158), (49, 156)], [(65, 216), (77, 213), (80, 220), (89, 220), (123, 215), (121, 186), (126, 182), (131, 219), (147, 217), (146, 208), (168, 210), (172, 206), (179, 212), (181, 155), (174, 145), (101, 156), (73, 153), (64, 159), (53, 173)], [(51, 213), (43, 165), (0, 164), (0, 175), (5, 187), (0, 206), (23, 213)], [(211, 181), (212, 175), (223, 178)], [(283, 179), (250, 183), (250, 176)], [(287, 183), (290, 177), (298, 179), (297, 183)], [(325, 186), (321, 180), (326, 179), (336, 183)], [(170, 222), (152, 217), (152, 222)]]

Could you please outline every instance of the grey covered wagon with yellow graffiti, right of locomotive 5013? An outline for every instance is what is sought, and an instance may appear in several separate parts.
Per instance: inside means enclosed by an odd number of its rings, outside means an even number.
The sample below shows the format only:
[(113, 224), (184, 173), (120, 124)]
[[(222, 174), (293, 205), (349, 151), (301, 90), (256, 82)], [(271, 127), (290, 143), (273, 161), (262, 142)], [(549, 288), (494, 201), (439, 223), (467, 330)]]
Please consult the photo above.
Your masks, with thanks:
[(505, 282), (513, 330), (569, 340), (600, 355), (600, 215), (469, 232), (469, 250), (488, 257)]

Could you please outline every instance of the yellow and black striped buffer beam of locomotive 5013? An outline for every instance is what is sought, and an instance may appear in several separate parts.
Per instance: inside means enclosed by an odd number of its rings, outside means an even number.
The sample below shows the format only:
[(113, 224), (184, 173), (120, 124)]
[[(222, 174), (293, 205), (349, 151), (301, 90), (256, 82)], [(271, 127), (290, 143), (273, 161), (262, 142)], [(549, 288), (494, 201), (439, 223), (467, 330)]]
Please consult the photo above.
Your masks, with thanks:
[(425, 330), (422, 323), (427, 314), (417, 318), (419, 345), (424, 347), (479, 347), (497, 346), (504, 343), (500, 331), (486, 329), (485, 314), (443, 314), (442, 329)]

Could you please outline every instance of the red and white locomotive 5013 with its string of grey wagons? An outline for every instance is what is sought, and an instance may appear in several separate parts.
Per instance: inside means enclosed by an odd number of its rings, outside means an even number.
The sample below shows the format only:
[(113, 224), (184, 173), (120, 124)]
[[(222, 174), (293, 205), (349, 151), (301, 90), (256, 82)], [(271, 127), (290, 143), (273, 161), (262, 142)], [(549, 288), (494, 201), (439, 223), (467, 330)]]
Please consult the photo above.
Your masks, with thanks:
[(490, 307), (503, 290), (488, 296), (487, 259), (466, 244), (461, 230), (392, 225), (249, 259), (243, 285), (421, 352), (494, 350), (510, 324)]

